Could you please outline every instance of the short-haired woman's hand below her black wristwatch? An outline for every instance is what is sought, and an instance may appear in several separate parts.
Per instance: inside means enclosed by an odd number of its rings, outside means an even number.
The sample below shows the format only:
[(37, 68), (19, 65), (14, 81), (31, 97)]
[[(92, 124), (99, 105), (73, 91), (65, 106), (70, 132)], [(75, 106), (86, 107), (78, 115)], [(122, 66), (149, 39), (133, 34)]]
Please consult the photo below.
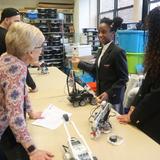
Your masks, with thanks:
[(30, 160), (52, 160), (53, 157), (52, 153), (42, 150), (36, 150), (29, 156)]

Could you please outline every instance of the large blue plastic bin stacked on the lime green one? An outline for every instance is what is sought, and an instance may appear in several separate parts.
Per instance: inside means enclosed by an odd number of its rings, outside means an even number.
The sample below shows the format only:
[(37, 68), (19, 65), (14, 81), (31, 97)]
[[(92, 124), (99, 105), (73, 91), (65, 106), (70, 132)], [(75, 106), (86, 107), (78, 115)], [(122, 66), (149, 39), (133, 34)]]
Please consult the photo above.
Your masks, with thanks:
[(118, 45), (126, 52), (145, 52), (147, 32), (142, 30), (119, 30), (116, 34)]

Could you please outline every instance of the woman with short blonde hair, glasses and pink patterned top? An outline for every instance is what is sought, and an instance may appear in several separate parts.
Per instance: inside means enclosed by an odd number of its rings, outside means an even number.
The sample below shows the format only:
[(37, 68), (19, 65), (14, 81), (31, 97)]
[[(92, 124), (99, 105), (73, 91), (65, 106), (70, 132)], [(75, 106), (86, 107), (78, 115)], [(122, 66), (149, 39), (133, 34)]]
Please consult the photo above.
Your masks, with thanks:
[(42, 32), (22, 22), (10, 26), (7, 52), (0, 57), (0, 159), (51, 160), (53, 155), (36, 148), (27, 130), (25, 114), (41, 118), (32, 110), (25, 87), (27, 65), (38, 61), (45, 38)]

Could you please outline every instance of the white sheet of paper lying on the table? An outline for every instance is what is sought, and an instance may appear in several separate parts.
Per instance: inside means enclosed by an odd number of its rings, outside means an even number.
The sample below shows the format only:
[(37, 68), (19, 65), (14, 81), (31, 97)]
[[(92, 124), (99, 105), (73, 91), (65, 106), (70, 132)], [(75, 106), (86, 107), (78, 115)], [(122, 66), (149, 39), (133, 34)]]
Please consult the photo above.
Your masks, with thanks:
[(69, 117), (71, 116), (71, 113), (50, 104), (42, 113), (42, 117), (44, 118), (37, 119), (32, 124), (49, 129), (56, 129), (63, 123), (63, 114), (68, 114)]

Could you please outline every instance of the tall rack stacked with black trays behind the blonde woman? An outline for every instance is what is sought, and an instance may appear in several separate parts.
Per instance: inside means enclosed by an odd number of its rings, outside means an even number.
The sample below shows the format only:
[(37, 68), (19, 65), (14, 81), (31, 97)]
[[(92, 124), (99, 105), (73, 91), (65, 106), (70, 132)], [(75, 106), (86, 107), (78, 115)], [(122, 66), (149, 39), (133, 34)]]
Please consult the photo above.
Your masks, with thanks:
[[(51, 15), (50, 15), (51, 14)], [(49, 16), (50, 15), (50, 16)], [(48, 16), (48, 17), (47, 17)], [(45, 36), (43, 55), (40, 57), (47, 66), (60, 69), (64, 65), (64, 21), (57, 18), (55, 9), (38, 9), (37, 27)]]

